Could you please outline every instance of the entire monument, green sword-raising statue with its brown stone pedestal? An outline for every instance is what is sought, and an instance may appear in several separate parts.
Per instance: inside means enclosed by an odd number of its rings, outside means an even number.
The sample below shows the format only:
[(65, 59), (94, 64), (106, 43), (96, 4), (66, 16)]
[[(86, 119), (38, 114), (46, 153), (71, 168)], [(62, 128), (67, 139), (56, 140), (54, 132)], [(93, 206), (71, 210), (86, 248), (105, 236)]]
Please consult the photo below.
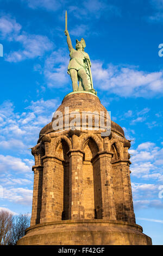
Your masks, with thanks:
[(152, 245), (135, 223), (130, 141), (93, 89), (84, 39), (72, 47), (67, 14), (65, 34), (73, 92), (32, 148), (32, 217), (17, 245)]

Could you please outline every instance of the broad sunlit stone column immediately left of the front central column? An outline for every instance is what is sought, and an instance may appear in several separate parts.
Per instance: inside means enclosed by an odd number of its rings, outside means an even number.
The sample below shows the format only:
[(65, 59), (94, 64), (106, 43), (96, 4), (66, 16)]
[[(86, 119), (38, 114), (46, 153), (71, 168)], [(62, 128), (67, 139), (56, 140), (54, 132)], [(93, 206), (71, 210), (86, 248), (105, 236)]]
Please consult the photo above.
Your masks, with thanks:
[(40, 223), (58, 221), (63, 211), (64, 169), (62, 161), (44, 156)]

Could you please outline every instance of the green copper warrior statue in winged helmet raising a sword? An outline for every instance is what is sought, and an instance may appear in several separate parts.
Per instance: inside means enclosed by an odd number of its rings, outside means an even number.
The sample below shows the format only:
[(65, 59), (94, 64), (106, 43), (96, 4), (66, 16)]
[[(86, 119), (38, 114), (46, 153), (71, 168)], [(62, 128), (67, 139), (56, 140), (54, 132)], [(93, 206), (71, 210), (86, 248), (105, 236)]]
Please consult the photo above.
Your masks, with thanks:
[(73, 92), (85, 90), (97, 94), (93, 89), (90, 57), (89, 54), (84, 52), (86, 46), (84, 39), (82, 38), (81, 41), (76, 40), (76, 50), (72, 47), (70, 35), (67, 31), (67, 11), (65, 23), (65, 35), (67, 36), (67, 44), (70, 51), (67, 73), (71, 76)]

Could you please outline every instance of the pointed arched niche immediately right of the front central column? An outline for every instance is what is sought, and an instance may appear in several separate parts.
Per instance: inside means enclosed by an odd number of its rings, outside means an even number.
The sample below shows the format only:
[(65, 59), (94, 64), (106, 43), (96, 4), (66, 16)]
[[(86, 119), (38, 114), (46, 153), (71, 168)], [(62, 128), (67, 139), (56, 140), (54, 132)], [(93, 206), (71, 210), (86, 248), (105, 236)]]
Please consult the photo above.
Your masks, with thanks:
[(92, 161), (98, 153), (96, 142), (89, 138), (83, 147), (83, 206), (86, 219), (102, 218), (102, 190), (99, 161)]

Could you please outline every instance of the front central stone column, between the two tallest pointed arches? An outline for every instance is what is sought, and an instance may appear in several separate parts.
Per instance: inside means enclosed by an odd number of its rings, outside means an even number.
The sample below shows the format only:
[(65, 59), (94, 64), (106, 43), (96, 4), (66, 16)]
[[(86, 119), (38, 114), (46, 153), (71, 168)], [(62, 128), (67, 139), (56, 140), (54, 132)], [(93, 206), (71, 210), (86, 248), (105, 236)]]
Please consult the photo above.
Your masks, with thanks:
[(83, 206), (83, 151), (71, 149), (70, 157), (70, 214), (72, 220), (84, 218)]

